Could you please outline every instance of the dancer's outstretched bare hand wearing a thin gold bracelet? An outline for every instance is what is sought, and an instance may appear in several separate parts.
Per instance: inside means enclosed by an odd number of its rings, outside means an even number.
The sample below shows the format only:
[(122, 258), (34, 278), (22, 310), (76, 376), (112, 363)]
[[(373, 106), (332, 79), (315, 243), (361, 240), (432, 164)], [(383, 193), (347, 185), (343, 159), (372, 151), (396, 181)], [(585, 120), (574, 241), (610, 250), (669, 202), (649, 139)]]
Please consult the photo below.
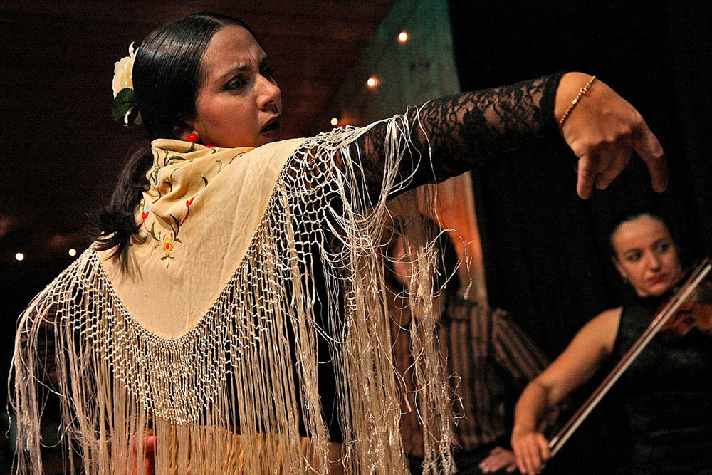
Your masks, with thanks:
[[(580, 88), (590, 79), (566, 73), (556, 91), (554, 116), (558, 121)], [(646, 162), (653, 189), (667, 187), (665, 153), (642, 116), (614, 90), (596, 78), (565, 120), (561, 133), (579, 158), (576, 191), (590, 197), (593, 186), (605, 189), (628, 165), (635, 150)]]

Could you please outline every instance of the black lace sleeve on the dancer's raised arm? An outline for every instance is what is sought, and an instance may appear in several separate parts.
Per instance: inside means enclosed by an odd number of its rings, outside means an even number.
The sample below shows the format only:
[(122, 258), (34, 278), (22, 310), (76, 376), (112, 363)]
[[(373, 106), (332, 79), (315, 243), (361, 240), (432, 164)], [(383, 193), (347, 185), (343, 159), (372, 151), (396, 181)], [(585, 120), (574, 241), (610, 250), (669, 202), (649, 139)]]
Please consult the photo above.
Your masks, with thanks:
[[(403, 160), (400, 173), (412, 181), (399, 192), (481, 167), (532, 140), (559, 137), (553, 111), (562, 75), (450, 95), (408, 110), (411, 140), (423, 157), (430, 150), (432, 166), (417, 157)], [(387, 122), (379, 122), (357, 142), (372, 197), (381, 189), (386, 136)]]

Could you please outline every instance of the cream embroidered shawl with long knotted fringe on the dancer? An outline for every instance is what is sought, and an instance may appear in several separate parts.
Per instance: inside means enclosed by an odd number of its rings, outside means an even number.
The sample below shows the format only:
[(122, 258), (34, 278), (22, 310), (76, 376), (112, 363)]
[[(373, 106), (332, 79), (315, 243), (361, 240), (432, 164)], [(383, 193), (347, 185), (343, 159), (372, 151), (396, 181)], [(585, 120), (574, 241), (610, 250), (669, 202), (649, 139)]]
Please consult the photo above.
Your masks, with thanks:
[[(19, 471), (41, 472), (48, 392), (61, 402), (68, 471), (77, 455), (88, 473), (129, 473), (155, 433), (157, 474), (405, 473), (404, 409), (419, 411), (428, 434), (426, 473), (453, 471), (434, 322), (412, 325), (419, 403), (409, 407), (385, 304), (386, 197), (409, 184), (404, 157), (429, 163), (412, 150), (409, 123), (391, 119), (381, 193), (368, 197), (348, 146), (367, 130), (253, 150), (155, 141), (142, 239), (123, 264), (88, 249), (21, 317), (11, 381)], [(419, 243), (412, 298), (428, 308), (434, 250), (416, 200), (399, 200), (398, 227)], [(341, 446), (321, 405), (319, 335)]]

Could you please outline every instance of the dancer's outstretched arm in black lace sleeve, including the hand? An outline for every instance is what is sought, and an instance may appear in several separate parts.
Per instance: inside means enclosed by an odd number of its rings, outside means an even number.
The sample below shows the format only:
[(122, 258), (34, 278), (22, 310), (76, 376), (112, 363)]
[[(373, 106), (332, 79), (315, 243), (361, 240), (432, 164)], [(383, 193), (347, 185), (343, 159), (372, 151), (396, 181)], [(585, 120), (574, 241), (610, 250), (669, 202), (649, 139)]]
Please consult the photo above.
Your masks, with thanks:
[[(414, 154), (402, 162), (402, 177), (412, 175), (404, 189), (456, 176), (533, 140), (563, 135), (579, 158), (577, 192), (582, 198), (590, 196), (594, 184), (607, 187), (627, 165), (632, 150), (648, 164), (654, 189), (662, 191), (667, 179), (662, 147), (637, 110), (601, 81), (593, 83), (558, 130), (557, 120), (589, 78), (557, 73), (451, 95), (409, 110), (410, 138), (423, 160)], [(372, 197), (382, 182), (387, 127), (380, 122), (359, 143)], [(426, 160), (429, 153), (432, 167)]]

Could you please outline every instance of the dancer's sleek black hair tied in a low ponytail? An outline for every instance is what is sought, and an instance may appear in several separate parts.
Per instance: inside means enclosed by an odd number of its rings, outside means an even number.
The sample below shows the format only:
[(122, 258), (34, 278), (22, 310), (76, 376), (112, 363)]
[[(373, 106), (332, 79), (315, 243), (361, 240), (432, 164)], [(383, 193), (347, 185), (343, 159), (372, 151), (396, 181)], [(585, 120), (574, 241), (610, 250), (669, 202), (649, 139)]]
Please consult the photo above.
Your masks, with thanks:
[[(223, 26), (237, 25), (255, 34), (231, 16), (202, 12), (157, 28), (141, 43), (132, 70), (137, 109), (148, 138), (174, 138), (174, 129), (194, 118), (202, 82), (201, 58), (213, 35)], [(119, 258), (140, 228), (135, 210), (149, 188), (146, 172), (153, 162), (150, 145), (130, 153), (111, 202), (91, 217), (97, 230), (96, 249), (115, 248)]]

